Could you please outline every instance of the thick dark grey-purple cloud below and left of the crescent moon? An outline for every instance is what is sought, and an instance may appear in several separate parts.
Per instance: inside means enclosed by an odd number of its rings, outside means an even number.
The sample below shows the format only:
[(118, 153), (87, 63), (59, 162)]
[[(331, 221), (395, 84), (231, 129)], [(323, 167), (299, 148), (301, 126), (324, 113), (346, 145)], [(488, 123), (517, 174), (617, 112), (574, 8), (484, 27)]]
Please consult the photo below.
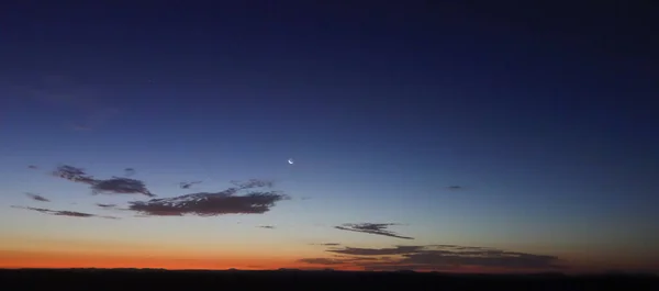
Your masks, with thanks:
[(289, 199), (278, 191), (252, 191), (237, 195), (239, 191), (236, 188), (228, 188), (221, 192), (200, 192), (175, 198), (134, 201), (130, 202), (129, 210), (154, 216), (263, 214), (270, 211), (276, 202)]

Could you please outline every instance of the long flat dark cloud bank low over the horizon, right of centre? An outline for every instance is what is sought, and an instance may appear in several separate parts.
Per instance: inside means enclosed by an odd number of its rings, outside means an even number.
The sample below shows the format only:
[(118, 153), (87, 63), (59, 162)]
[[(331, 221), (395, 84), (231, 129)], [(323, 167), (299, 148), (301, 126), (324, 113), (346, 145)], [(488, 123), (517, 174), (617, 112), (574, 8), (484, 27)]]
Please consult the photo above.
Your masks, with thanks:
[[(365, 270), (444, 270), (461, 267), (492, 269), (566, 268), (556, 256), (456, 245), (395, 246), (390, 248), (344, 247), (330, 248), (326, 251), (349, 257), (339, 259), (312, 258), (300, 261), (315, 265), (350, 264)], [(366, 256), (371, 259), (354, 256)], [(324, 259), (328, 260), (325, 261)], [(330, 264), (324, 264), (324, 261)]]

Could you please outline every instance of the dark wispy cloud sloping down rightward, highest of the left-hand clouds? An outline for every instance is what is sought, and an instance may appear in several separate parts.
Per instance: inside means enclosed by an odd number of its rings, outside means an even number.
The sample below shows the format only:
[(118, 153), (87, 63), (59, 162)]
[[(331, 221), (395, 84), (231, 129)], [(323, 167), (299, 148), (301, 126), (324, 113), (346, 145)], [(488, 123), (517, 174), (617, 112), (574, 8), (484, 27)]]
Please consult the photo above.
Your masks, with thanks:
[(53, 171), (53, 176), (72, 182), (89, 184), (94, 194), (144, 194), (146, 197), (155, 197), (141, 180), (121, 177), (96, 179), (93, 176), (88, 175), (85, 169), (74, 166), (59, 166)]

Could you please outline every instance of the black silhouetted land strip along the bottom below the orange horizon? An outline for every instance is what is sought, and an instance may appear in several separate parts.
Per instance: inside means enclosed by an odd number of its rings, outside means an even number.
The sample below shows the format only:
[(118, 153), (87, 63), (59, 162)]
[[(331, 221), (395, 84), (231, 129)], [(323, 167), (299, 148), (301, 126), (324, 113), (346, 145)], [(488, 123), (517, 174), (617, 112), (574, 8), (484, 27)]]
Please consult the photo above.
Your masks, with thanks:
[(0, 270), (2, 290), (659, 290), (656, 276), (448, 275), (351, 271)]

